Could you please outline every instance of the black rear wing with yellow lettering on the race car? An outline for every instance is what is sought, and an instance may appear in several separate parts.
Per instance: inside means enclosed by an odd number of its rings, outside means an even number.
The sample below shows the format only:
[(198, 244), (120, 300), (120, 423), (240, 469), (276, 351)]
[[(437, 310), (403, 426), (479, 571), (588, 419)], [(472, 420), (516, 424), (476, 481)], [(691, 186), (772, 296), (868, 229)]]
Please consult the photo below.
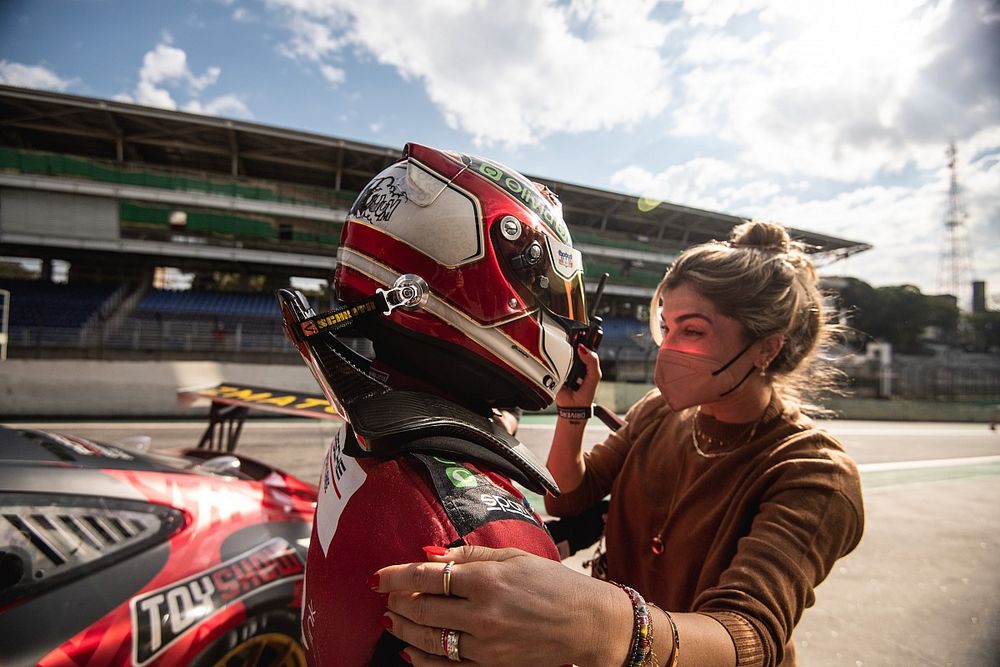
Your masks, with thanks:
[(226, 382), (214, 387), (178, 389), (177, 402), (190, 407), (211, 404), (208, 428), (198, 447), (216, 451), (236, 449), (251, 409), (313, 419), (343, 419), (330, 401), (319, 394)]

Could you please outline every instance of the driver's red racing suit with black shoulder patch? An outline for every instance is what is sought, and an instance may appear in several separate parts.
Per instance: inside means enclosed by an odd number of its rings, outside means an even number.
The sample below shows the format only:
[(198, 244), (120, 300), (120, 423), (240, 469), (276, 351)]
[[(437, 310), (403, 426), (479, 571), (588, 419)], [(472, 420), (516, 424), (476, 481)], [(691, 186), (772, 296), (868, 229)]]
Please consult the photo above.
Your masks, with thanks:
[(517, 547), (559, 560), (540, 517), (510, 481), (483, 465), (430, 454), (392, 459), (344, 454), (346, 427), (320, 477), (302, 603), (310, 665), (405, 665), (384, 633), (378, 569), (426, 560), (422, 547)]

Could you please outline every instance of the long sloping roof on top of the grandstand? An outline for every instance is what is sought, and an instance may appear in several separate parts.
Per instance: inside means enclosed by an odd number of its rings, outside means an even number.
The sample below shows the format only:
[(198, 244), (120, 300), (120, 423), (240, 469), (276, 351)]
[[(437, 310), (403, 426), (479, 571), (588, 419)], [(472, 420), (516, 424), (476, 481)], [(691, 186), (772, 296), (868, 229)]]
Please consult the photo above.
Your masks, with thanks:
[[(400, 149), (112, 100), (0, 85), (0, 145), (206, 174), (360, 191)], [(724, 239), (741, 218), (530, 176), (556, 192), (575, 234), (647, 250)], [(866, 243), (790, 229), (827, 263)], [(587, 251), (593, 248), (592, 245)], [(638, 251), (637, 251), (638, 252)]]

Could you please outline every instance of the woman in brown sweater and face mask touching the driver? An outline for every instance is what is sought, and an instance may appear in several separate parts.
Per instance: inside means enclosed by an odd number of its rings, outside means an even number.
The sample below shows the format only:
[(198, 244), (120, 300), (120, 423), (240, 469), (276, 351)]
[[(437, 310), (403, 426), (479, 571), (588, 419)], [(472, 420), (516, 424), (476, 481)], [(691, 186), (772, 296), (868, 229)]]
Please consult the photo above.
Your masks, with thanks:
[[(775, 224), (731, 238), (682, 253), (657, 288), (656, 389), (628, 425), (582, 454), (584, 422), (557, 420), (548, 466), (564, 494), (547, 508), (573, 515), (611, 493), (618, 586), (513, 549), (384, 568), (373, 582), (413, 664), (444, 664), (450, 631), (463, 659), (490, 665), (795, 664), (814, 588), (861, 539), (860, 480), (801, 411), (829, 335), (811, 261)], [(593, 400), (599, 366), (584, 358), (561, 408)]]

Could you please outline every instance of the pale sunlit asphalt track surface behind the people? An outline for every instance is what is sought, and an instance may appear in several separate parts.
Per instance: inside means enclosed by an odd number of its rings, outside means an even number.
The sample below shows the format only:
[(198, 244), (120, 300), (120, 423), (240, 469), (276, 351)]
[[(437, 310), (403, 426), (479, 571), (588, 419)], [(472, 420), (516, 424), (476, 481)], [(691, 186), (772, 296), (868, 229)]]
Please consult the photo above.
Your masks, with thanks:
[[(23, 427), (24, 424), (17, 424)], [(154, 449), (193, 446), (205, 422), (33, 424)], [(867, 523), (795, 630), (805, 667), (1000, 665), (1000, 431), (979, 424), (834, 421), (858, 462)], [(248, 421), (240, 453), (314, 480), (336, 422)], [(519, 436), (542, 460), (552, 419)], [(606, 430), (588, 428), (587, 442)], [(568, 561), (579, 567), (582, 556)]]

